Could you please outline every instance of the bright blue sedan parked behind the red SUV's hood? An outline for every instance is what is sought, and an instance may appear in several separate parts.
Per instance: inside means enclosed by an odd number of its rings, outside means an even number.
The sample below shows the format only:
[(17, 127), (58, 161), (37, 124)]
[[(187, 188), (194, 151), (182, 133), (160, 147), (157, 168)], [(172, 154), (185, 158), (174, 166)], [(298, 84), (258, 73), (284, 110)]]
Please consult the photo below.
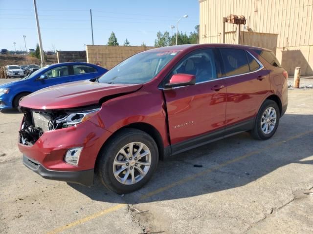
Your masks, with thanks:
[(45, 87), (98, 78), (107, 71), (86, 62), (57, 63), (41, 68), (21, 80), (0, 85), (0, 109), (17, 108), (22, 98)]

